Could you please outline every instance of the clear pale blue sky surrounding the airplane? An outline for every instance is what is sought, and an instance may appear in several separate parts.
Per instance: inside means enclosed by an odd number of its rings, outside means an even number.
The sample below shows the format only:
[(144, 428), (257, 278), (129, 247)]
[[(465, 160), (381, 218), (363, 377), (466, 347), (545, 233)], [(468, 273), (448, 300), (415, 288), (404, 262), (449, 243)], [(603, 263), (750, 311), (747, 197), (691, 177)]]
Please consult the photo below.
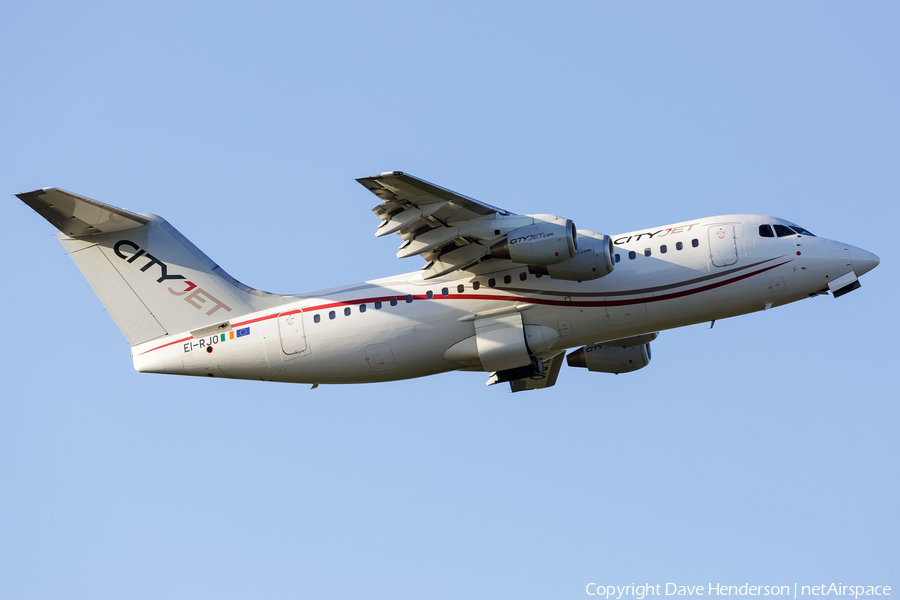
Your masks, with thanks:
[[(6, 3), (4, 598), (576, 598), (900, 586), (900, 9)], [(300, 293), (398, 272), (354, 178), (631, 231), (748, 212), (878, 254), (861, 290), (663, 332), (540, 393), (139, 375), (13, 194), (165, 216)], [(893, 290), (893, 291), (892, 291)]]

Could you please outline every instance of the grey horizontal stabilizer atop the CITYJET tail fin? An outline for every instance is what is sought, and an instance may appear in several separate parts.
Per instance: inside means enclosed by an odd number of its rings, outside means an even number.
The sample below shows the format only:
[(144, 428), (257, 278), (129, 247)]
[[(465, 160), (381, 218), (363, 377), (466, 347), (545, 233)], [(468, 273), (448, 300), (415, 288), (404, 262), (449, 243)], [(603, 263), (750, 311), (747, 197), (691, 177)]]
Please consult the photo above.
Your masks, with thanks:
[(69, 237), (125, 231), (150, 222), (147, 217), (59, 188), (16, 196)]

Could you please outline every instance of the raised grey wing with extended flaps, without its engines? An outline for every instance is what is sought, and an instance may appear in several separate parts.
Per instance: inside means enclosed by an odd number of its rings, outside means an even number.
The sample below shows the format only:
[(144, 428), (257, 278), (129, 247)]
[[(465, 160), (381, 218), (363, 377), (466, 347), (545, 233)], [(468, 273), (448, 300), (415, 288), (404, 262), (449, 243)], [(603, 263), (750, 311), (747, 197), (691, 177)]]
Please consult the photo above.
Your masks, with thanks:
[(492, 217), (513, 214), (401, 171), (357, 181), (382, 200), (372, 209), (381, 219), (375, 235), (398, 234), (403, 245), (397, 258), (422, 256), (428, 262), (422, 274), (425, 279), (482, 260), (489, 242), (500, 235)]

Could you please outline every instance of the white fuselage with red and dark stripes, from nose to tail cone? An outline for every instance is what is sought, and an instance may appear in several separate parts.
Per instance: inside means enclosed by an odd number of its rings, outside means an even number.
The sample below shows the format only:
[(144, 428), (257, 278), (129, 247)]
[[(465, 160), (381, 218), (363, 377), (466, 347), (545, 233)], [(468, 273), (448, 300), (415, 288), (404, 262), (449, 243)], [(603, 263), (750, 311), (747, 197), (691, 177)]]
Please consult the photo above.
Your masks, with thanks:
[[(761, 237), (755, 215), (698, 219), (613, 237), (613, 272), (575, 282), (506, 261), (425, 281), (409, 273), (297, 296), (248, 314), (227, 332), (189, 333), (133, 349), (143, 372), (300, 383), (363, 383), (483, 370), (447, 351), (475, 335), (472, 315), (504, 310), (553, 330), (540, 359), (787, 304), (851, 271), (874, 268), (859, 248), (807, 235)], [(558, 337), (556, 337), (558, 334)], [(173, 339), (174, 338), (174, 339)]]

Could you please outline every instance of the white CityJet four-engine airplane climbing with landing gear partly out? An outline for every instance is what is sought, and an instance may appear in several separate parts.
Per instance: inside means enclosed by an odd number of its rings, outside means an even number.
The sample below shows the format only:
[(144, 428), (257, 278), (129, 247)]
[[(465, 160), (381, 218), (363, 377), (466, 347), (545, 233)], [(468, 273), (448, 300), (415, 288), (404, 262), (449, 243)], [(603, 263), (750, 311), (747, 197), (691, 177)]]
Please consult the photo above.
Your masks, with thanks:
[[(59, 188), (17, 196), (57, 234), (142, 373), (311, 384), (489, 373), (513, 392), (570, 367), (628, 373), (662, 330), (860, 287), (879, 258), (784, 219), (723, 215), (606, 235), (388, 171), (377, 237), (421, 270), (308, 294), (228, 275), (166, 220)], [(574, 351), (567, 354), (569, 350)]]

